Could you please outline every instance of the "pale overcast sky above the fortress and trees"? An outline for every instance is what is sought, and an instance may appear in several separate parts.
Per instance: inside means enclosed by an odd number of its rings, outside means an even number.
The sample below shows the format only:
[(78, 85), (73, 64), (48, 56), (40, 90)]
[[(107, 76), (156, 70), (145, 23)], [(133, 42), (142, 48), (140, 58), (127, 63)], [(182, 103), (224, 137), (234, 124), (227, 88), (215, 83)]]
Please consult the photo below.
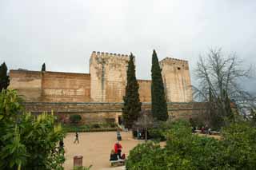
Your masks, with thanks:
[(92, 51), (132, 52), (137, 77), (150, 79), (153, 49), (188, 60), (193, 75), (199, 54), (222, 47), (256, 65), (255, 18), (255, 0), (0, 0), (0, 62), (89, 73)]

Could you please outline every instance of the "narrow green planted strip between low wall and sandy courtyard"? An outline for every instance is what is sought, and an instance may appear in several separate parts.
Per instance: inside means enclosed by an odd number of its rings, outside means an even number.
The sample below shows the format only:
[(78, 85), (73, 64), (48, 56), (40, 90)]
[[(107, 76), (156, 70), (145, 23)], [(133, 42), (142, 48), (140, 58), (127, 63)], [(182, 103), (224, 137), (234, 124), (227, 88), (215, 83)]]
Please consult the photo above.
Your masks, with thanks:
[(62, 128), (66, 132), (106, 132), (116, 131), (117, 125), (114, 123), (102, 123), (102, 124), (86, 124), (86, 125), (74, 125), (64, 124)]

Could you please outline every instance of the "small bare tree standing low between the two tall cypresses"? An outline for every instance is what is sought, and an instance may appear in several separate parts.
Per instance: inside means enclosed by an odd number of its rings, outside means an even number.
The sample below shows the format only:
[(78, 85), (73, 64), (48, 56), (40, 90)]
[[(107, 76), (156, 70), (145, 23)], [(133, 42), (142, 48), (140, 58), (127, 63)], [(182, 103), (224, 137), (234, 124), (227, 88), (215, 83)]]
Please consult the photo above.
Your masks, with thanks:
[(147, 140), (147, 131), (154, 125), (154, 118), (150, 110), (143, 109), (140, 112), (140, 117), (134, 122), (134, 128), (142, 129), (145, 131), (145, 140)]

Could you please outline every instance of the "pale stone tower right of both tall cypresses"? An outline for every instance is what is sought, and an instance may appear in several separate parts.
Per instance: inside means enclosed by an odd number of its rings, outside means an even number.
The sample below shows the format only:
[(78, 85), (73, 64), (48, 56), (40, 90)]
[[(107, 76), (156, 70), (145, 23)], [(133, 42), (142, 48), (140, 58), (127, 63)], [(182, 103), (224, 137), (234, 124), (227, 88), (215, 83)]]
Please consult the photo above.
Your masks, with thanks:
[(166, 57), (159, 62), (168, 102), (192, 101), (188, 61)]

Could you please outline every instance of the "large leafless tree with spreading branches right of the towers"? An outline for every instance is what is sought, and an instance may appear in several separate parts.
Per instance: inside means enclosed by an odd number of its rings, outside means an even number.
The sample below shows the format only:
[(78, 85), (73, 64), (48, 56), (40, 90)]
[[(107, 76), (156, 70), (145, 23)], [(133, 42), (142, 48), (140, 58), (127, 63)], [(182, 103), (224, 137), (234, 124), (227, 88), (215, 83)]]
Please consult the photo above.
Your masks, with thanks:
[(243, 114), (243, 108), (255, 108), (255, 97), (242, 89), (245, 78), (251, 78), (251, 67), (242, 68), (242, 61), (233, 54), (225, 57), (222, 49), (210, 49), (205, 57), (200, 56), (195, 76), (198, 87), (193, 87), (194, 97), (200, 101), (210, 101), (220, 111), (226, 114), (227, 98), (238, 107)]

